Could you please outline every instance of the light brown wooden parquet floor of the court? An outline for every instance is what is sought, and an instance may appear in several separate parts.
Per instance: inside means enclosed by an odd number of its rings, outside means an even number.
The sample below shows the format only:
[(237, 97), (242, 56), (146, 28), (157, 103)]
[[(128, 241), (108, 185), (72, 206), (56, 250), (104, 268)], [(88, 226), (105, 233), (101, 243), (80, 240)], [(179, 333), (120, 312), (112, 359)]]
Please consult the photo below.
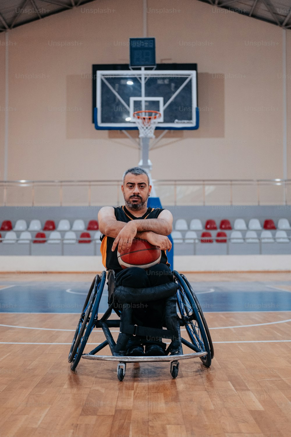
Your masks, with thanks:
[[(291, 280), (290, 273), (187, 277), (260, 281), (266, 275), (270, 281)], [(87, 276), (0, 274), (0, 279), (84, 281)], [(291, 312), (205, 316), (209, 327), (222, 328), (211, 329), (210, 368), (199, 358), (181, 361), (174, 380), (169, 363), (127, 364), (119, 382), (116, 364), (106, 361), (82, 359), (75, 373), (70, 370), (68, 351), (79, 315), (1, 313), (1, 325), (10, 326), (0, 326), (0, 341), (7, 343), (0, 344), (0, 436), (290, 437)], [(94, 330), (88, 342), (103, 339)]]

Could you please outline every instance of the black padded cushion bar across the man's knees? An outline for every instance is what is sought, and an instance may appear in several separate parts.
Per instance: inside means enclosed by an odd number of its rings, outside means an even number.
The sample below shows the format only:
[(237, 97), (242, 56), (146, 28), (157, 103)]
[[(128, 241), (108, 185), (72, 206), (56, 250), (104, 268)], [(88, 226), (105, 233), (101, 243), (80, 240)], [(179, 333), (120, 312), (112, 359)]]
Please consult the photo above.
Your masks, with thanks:
[(174, 296), (178, 290), (178, 284), (167, 282), (148, 288), (130, 288), (120, 285), (114, 291), (114, 300), (119, 303), (150, 302)]

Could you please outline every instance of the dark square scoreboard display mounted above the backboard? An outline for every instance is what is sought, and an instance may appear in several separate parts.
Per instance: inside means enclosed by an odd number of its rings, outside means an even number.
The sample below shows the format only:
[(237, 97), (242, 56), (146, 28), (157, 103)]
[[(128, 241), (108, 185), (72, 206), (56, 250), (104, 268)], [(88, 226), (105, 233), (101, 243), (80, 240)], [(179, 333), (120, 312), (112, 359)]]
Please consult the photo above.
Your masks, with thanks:
[(155, 38), (130, 38), (129, 59), (130, 67), (155, 67)]

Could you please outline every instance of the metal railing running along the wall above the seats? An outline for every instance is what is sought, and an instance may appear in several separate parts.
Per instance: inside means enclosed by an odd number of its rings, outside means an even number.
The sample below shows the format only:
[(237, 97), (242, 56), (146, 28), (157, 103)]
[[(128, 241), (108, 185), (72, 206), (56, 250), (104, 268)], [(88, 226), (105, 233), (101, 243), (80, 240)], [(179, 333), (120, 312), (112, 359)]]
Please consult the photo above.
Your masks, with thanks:
[[(290, 179), (153, 180), (162, 205), (291, 205)], [(123, 204), (120, 180), (0, 181), (3, 206)]]

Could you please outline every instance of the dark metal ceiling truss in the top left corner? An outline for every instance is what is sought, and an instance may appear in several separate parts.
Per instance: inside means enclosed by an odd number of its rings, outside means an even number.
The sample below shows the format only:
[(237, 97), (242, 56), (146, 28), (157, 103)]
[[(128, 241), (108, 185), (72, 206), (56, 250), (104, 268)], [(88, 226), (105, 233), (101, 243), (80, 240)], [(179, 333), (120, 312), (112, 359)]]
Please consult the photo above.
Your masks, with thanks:
[[(22, 24), (30, 23), (31, 21), (41, 20), (41, 18), (48, 17), (49, 15), (58, 14), (59, 12), (63, 12), (64, 10), (73, 9), (74, 7), (78, 7), (84, 5), (86, 3), (90, 3), (94, 0), (23, 0), (19, 2), (19, 7), (15, 7), (15, 3), (13, 3), (13, 8), (15, 9), (15, 14), (10, 17), (10, 20), (5, 18), (4, 7), (0, 5), (0, 32), (4, 32), (14, 27), (21, 26)], [(46, 13), (43, 13), (43, 3), (51, 5), (52, 8), (47, 10)], [(6, 10), (9, 9), (6, 6)], [(21, 16), (25, 16), (25, 7), (31, 7), (31, 14), (27, 17), (26, 20), (20, 21)], [(10, 9), (12, 4), (10, 6)], [(27, 15), (27, 14), (26, 14)]]

